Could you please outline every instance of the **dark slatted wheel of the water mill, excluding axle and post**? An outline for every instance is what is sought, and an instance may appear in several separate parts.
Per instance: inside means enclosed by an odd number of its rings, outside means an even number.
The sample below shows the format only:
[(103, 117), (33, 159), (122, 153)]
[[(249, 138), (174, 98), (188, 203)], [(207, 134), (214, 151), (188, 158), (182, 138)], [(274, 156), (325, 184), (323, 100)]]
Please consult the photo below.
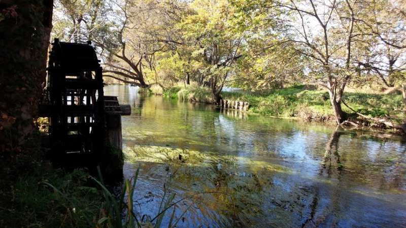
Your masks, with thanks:
[[(102, 68), (90, 42), (55, 39), (49, 56), (49, 133), (56, 154), (102, 151), (105, 113)], [(96, 142), (96, 143), (95, 143)]]

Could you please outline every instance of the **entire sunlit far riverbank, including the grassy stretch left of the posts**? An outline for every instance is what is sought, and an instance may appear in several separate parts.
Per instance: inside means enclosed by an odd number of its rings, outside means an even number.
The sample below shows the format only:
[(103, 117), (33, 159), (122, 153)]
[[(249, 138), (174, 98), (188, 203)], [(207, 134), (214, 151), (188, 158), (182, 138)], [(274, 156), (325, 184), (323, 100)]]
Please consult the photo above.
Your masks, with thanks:
[[(156, 90), (155, 90), (156, 91)], [(153, 94), (154, 90), (152, 90)], [(201, 87), (173, 87), (162, 90), (161, 95), (172, 99), (214, 103), (209, 89)], [(299, 85), (268, 91), (222, 92), (223, 99), (248, 102), (251, 113), (280, 118), (300, 118), (309, 121), (335, 122), (327, 91), (312, 85)], [(343, 100), (358, 113), (370, 118), (387, 118), (400, 124), (404, 118), (400, 94), (372, 94), (346, 92)], [(357, 118), (353, 110), (342, 105), (350, 118)]]

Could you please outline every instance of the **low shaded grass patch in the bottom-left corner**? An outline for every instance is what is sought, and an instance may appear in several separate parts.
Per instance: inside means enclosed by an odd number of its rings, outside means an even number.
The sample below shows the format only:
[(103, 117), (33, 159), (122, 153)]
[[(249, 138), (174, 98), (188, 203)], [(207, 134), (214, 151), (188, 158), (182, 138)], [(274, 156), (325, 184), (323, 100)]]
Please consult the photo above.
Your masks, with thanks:
[(88, 178), (83, 170), (50, 168), (8, 182), (9, 188), (2, 186), (1, 191), (0, 226), (94, 227), (103, 198), (87, 184)]

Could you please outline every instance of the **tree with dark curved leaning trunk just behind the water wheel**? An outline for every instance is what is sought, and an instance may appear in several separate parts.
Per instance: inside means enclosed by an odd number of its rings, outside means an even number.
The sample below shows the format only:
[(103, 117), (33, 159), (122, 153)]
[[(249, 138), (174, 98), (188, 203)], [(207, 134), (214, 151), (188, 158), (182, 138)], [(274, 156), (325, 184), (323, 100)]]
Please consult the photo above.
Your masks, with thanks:
[(67, 42), (92, 40), (103, 59), (104, 77), (147, 87), (155, 53), (174, 49), (176, 2), (59, 0), (53, 35)]

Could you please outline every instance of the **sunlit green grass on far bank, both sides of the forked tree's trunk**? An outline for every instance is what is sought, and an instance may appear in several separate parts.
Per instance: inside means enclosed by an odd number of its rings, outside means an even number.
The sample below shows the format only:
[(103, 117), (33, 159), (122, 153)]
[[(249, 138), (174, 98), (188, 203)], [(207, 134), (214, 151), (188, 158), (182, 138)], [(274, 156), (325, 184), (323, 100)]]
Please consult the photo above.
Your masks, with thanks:
[[(308, 88), (309, 86), (300, 85), (261, 92), (222, 92), (222, 97), (249, 102), (251, 112), (263, 115), (302, 118), (311, 116), (320, 121), (332, 120), (333, 111), (328, 93)], [(346, 92), (343, 99), (357, 112), (370, 117), (403, 118), (401, 95)], [(346, 112), (352, 113), (344, 104), (342, 107)]]

